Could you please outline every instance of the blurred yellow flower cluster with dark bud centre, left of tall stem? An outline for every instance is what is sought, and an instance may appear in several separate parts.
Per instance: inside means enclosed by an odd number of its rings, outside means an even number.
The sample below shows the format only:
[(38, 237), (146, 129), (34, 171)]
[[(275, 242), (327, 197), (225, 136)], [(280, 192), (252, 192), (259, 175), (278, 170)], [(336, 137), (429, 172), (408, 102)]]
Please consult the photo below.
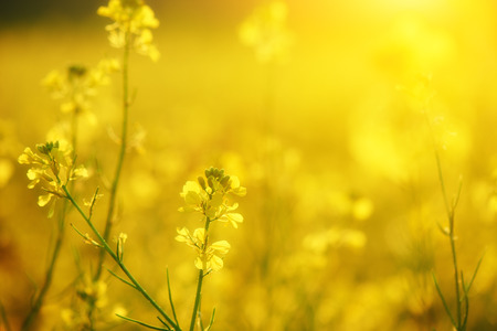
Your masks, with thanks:
[(109, 83), (109, 74), (119, 70), (114, 58), (102, 60), (96, 67), (71, 65), (65, 72), (52, 71), (43, 79), (54, 99), (62, 100), (62, 113), (88, 114), (89, 99), (96, 87)]

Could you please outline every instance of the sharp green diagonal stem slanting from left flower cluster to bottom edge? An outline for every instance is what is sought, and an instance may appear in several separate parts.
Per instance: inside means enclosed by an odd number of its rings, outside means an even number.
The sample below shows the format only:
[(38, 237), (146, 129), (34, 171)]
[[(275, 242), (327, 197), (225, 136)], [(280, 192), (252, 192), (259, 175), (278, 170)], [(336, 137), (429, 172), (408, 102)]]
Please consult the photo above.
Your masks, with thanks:
[(144, 287), (138, 282), (138, 280), (135, 279), (135, 277), (131, 275), (131, 273), (128, 270), (128, 268), (124, 265), (121, 260), (119, 260), (119, 257), (113, 252), (113, 249), (108, 246), (107, 241), (104, 239), (104, 237), (101, 235), (101, 233), (96, 229), (95, 225), (92, 223), (92, 220), (86, 216), (86, 214), (82, 211), (80, 205), (74, 201), (74, 197), (70, 194), (67, 191), (67, 188), (65, 185), (62, 186), (66, 197), (71, 201), (71, 203), (74, 205), (74, 207), (77, 210), (77, 212), (81, 214), (81, 216), (86, 221), (86, 224), (89, 226), (92, 232), (95, 234), (95, 236), (101, 242), (103, 249), (110, 255), (110, 257), (116, 261), (116, 264), (119, 266), (119, 268), (123, 270), (123, 273), (128, 277), (130, 282), (136, 287), (137, 291), (141, 293), (149, 302), (150, 305), (168, 321), (168, 323), (177, 331), (180, 331), (180, 327), (175, 323), (175, 321), (166, 313), (166, 311), (154, 300), (154, 298), (150, 297), (150, 295), (144, 289)]

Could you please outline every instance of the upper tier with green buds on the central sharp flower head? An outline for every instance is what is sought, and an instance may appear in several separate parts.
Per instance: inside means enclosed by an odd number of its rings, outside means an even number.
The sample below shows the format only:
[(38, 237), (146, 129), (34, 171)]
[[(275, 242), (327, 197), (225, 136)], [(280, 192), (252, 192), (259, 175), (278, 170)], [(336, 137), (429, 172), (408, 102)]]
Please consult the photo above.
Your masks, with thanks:
[(205, 171), (205, 179), (188, 181), (180, 193), (184, 199), (184, 206), (180, 212), (199, 212), (210, 221), (229, 222), (233, 227), (243, 222), (243, 216), (232, 213), (239, 207), (237, 203), (230, 204), (229, 195), (244, 196), (246, 189), (240, 185), (235, 175), (225, 175), (224, 170), (211, 168)]

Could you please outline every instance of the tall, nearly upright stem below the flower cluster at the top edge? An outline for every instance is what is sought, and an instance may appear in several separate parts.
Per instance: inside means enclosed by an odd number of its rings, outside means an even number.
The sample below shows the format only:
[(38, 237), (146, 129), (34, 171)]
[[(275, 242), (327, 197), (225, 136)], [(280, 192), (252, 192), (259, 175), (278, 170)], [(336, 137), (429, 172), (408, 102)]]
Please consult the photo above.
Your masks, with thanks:
[[(113, 227), (113, 218), (114, 212), (116, 209), (116, 197), (117, 197), (117, 188), (119, 185), (120, 172), (123, 170), (123, 163), (126, 156), (127, 148), (127, 137), (128, 137), (128, 113), (129, 113), (129, 83), (128, 83), (128, 66), (129, 66), (129, 47), (130, 47), (130, 33), (126, 34), (126, 43), (123, 55), (123, 126), (120, 134), (120, 149), (119, 156), (117, 159), (116, 170), (114, 174), (114, 181), (110, 186), (109, 193), (109, 203), (108, 203), (108, 212), (107, 220), (105, 222), (105, 229), (103, 238), (107, 242), (110, 236), (110, 231)], [(105, 252), (101, 250), (101, 255), (98, 257), (97, 270), (94, 276), (94, 280), (99, 279), (102, 274), (102, 268), (104, 264)]]

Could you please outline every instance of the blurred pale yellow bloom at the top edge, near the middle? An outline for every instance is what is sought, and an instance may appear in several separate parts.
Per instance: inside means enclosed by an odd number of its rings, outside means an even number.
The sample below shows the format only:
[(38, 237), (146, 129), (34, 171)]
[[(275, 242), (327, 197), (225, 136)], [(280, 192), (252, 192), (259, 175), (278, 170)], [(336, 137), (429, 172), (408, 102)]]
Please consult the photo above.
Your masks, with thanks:
[(283, 1), (274, 1), (257, 8), (241, 25), (242, 42), (254, 49), (261, 63), (284, 62), (292, 45), (286, 28), (288, 8)]

